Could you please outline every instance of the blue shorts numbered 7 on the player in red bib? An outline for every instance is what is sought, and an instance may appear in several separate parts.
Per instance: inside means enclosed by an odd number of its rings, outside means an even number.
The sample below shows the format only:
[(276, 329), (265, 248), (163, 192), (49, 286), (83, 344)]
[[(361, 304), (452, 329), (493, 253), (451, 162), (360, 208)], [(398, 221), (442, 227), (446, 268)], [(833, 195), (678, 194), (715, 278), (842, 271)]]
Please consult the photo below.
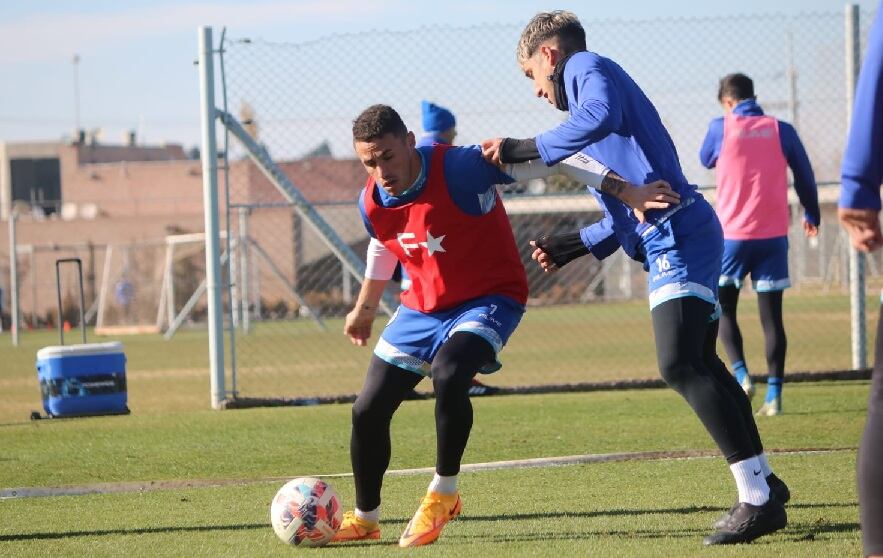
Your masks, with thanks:
[[(523, 315), (524, 306), (500, 295), (475, 298), (430, 314), (399, 305), (380, 335), (374, 354), (394, 366), (429, 376), (432, 359), (454, 333), (474, 333), (499, 353)], [(495, 361), (479, 372), (490, 374), (501, 366)]]

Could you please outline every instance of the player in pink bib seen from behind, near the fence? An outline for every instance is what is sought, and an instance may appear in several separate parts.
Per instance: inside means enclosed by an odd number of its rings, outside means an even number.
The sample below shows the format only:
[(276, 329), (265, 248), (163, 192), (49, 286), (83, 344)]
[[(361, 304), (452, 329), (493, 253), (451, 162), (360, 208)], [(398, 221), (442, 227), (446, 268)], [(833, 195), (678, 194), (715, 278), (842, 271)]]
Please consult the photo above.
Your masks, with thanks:
[(742, 332), (736, 320), (739, 291), (750, 273), (766, 346), (767, 393), (758, 415), (782, 412), (787, 338), (782, 319), (782, 294), (788, 278), (788, 167), (794, 190), (804, 207), (803, 229), (819, 234), (816, 181), (797, 131), (763, 113), (754, 96), (754, 82), (745, 74), (721, 78), (718, 101), (724, 116), (715, 118), (699, 151), (707, 168), (716, 168), (716, 211), (724, 229), (720, 277), (723, 341), (736, 380), (748, 397), (754, 384), (748, 373)]

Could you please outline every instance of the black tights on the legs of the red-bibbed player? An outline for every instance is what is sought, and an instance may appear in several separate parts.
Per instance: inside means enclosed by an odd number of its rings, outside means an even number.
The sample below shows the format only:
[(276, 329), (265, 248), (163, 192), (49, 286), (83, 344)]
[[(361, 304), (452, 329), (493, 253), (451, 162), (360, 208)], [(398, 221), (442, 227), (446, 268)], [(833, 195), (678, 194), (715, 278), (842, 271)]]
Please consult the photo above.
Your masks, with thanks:
[[(435, 391), (436, 472), (460, 472), (460, 460), (472, 429), (469, 386), (473, 373), (494, 361), (491, 345), (472, 333), (455, 333), (432, 362)], [(353, 404), (350, 458), (356, 484), (356, 507), (373, 510), (380, 505), (383, 473), (391, 454), (389, 426), (392, 415), (422, 376), (371, 357), (365, 385)]]

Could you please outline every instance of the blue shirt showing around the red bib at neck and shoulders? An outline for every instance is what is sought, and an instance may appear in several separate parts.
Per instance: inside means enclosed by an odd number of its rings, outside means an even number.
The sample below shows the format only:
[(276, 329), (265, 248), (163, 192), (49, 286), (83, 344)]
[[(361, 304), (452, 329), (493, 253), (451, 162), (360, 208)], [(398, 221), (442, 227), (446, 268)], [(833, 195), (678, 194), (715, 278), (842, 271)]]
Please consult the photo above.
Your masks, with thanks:
[[(383, 188), (376, 188), (377, 203), (383, 207), (397, 207), (410, 203), (417, 199), (426, 186), (426, 177), (429, 176), (429, 165), (432, 159), (432, 147), (418, 147), (417, 152), (423, 162), (420, 175), (405, 192), (400, 196), (391, 196)], [(494, 208), (496, 202), (497, 184), (510, 184), (512, 177), (504, 173), (496, 165), (491, 165), (481, 155), (481, 146), (470, 145), (465, 147), (452, 147), (445, 153), (445, 181), (448, 183), (448, 192), (451, 199), (469, 215), (484, 215)], [(359, 195), (359, 212), (365, 228), (373, 238), (374, 228), (365, 214), (364, 196)]]

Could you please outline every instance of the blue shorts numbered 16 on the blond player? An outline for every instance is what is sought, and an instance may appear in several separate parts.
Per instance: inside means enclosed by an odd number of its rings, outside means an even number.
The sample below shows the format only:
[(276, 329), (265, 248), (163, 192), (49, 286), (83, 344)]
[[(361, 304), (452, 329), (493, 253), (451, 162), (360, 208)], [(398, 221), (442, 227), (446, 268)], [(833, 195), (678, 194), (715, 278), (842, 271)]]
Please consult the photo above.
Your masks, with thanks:
[(642, 236), (651, 310), (685, 296), (717, 305), (723, 230), (705, 198), (697, 195), (690, 199)]

